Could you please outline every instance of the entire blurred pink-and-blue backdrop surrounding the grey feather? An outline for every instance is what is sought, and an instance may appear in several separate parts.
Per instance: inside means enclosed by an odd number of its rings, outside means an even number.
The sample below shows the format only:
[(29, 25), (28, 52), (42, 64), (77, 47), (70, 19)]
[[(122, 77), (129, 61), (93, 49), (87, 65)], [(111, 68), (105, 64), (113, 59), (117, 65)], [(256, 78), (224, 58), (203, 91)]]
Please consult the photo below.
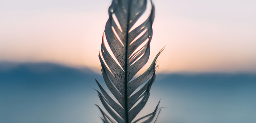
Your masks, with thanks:
[[(159, 123), (256, 122), (256, 1), (154, 3), (149, 64), (166, 48), (140, 115), (161, 98)], [(101, 122), (93, 88), (94, 78), (104, 85), (98, 53), (110, 4), (0, 0), (1, 123)]]

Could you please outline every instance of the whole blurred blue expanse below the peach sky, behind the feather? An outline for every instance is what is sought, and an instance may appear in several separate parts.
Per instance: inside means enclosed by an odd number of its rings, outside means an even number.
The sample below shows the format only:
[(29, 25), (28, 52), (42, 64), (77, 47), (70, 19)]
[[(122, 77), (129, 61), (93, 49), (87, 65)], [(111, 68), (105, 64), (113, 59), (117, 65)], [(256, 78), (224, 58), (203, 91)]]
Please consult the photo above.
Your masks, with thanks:
[[(49, 63), (0, 64), (1, 123), (101, 123), (88, 69)], [(106, 87), (106, 86), (104, 86)], [(255, 123), (256, 75), (157, 75), (141, 115), (161, 98), (158, 123)]]

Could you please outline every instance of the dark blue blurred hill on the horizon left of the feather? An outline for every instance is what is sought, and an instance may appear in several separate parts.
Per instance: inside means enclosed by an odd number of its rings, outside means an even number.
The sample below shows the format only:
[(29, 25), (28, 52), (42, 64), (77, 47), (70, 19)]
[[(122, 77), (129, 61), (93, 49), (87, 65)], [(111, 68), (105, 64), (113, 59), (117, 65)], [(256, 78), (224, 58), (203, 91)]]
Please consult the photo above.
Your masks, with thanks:
[(99, 78), (100, 75), (88, 68), (78, 69), (53, 63), (0, 63), (0, 83), (15, 84), (20, 88), (23, 85), (42, 88), (49, 84), (85, 86), (88, 82), (94, 82), (96, 77)]

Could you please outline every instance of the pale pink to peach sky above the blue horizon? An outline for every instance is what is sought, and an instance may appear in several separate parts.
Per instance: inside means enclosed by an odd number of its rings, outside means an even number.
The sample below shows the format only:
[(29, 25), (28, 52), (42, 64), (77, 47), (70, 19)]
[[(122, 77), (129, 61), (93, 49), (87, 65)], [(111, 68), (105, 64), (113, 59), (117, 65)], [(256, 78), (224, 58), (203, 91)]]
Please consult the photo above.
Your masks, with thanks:
[[(155, 0), (161, 72), (256, 72), (255, 0)], [(0, 61), (100, 70), (111, 0), (1, 0)], [(151, 60), (150, 60), (151, 61)]]

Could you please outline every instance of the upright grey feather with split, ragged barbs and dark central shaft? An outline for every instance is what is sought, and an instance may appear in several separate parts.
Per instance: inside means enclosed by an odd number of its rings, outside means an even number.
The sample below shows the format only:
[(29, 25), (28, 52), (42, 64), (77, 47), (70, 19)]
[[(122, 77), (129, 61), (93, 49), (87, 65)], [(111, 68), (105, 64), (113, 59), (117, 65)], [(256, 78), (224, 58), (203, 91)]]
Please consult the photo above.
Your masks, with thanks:
[[(147, 2), (151, 5), (149, 17), (132, 30), (138, 19), (145, 13)], [(102, 114), (100, 118), (103, 123), (131, 123), (132, 121), (137, 123), (143, 119), (142, 123), (153, 122), (157, 111), (161, 110), (161, 108), (158, 110), (160, 101), (152, 113), (137, 120), (134, 118), (148, 101), (149, 91), (156, 76), (156, 59), (163, 49), (142, 75), (131, 80), (149, 59), (155, 15), (153, 2), (151, 0), (113, 0), (108, 14), (109, 19), (102, 36), (99, 59), (102, 76), (114, 97), (109, 96), (95, 79), (101, 91), (97, 90), (100, 101), (110, 115), (108, 116), (100, 106), (96, 105)], [(145, 83), (144, 86), (135, 92), (143, 83)]]

